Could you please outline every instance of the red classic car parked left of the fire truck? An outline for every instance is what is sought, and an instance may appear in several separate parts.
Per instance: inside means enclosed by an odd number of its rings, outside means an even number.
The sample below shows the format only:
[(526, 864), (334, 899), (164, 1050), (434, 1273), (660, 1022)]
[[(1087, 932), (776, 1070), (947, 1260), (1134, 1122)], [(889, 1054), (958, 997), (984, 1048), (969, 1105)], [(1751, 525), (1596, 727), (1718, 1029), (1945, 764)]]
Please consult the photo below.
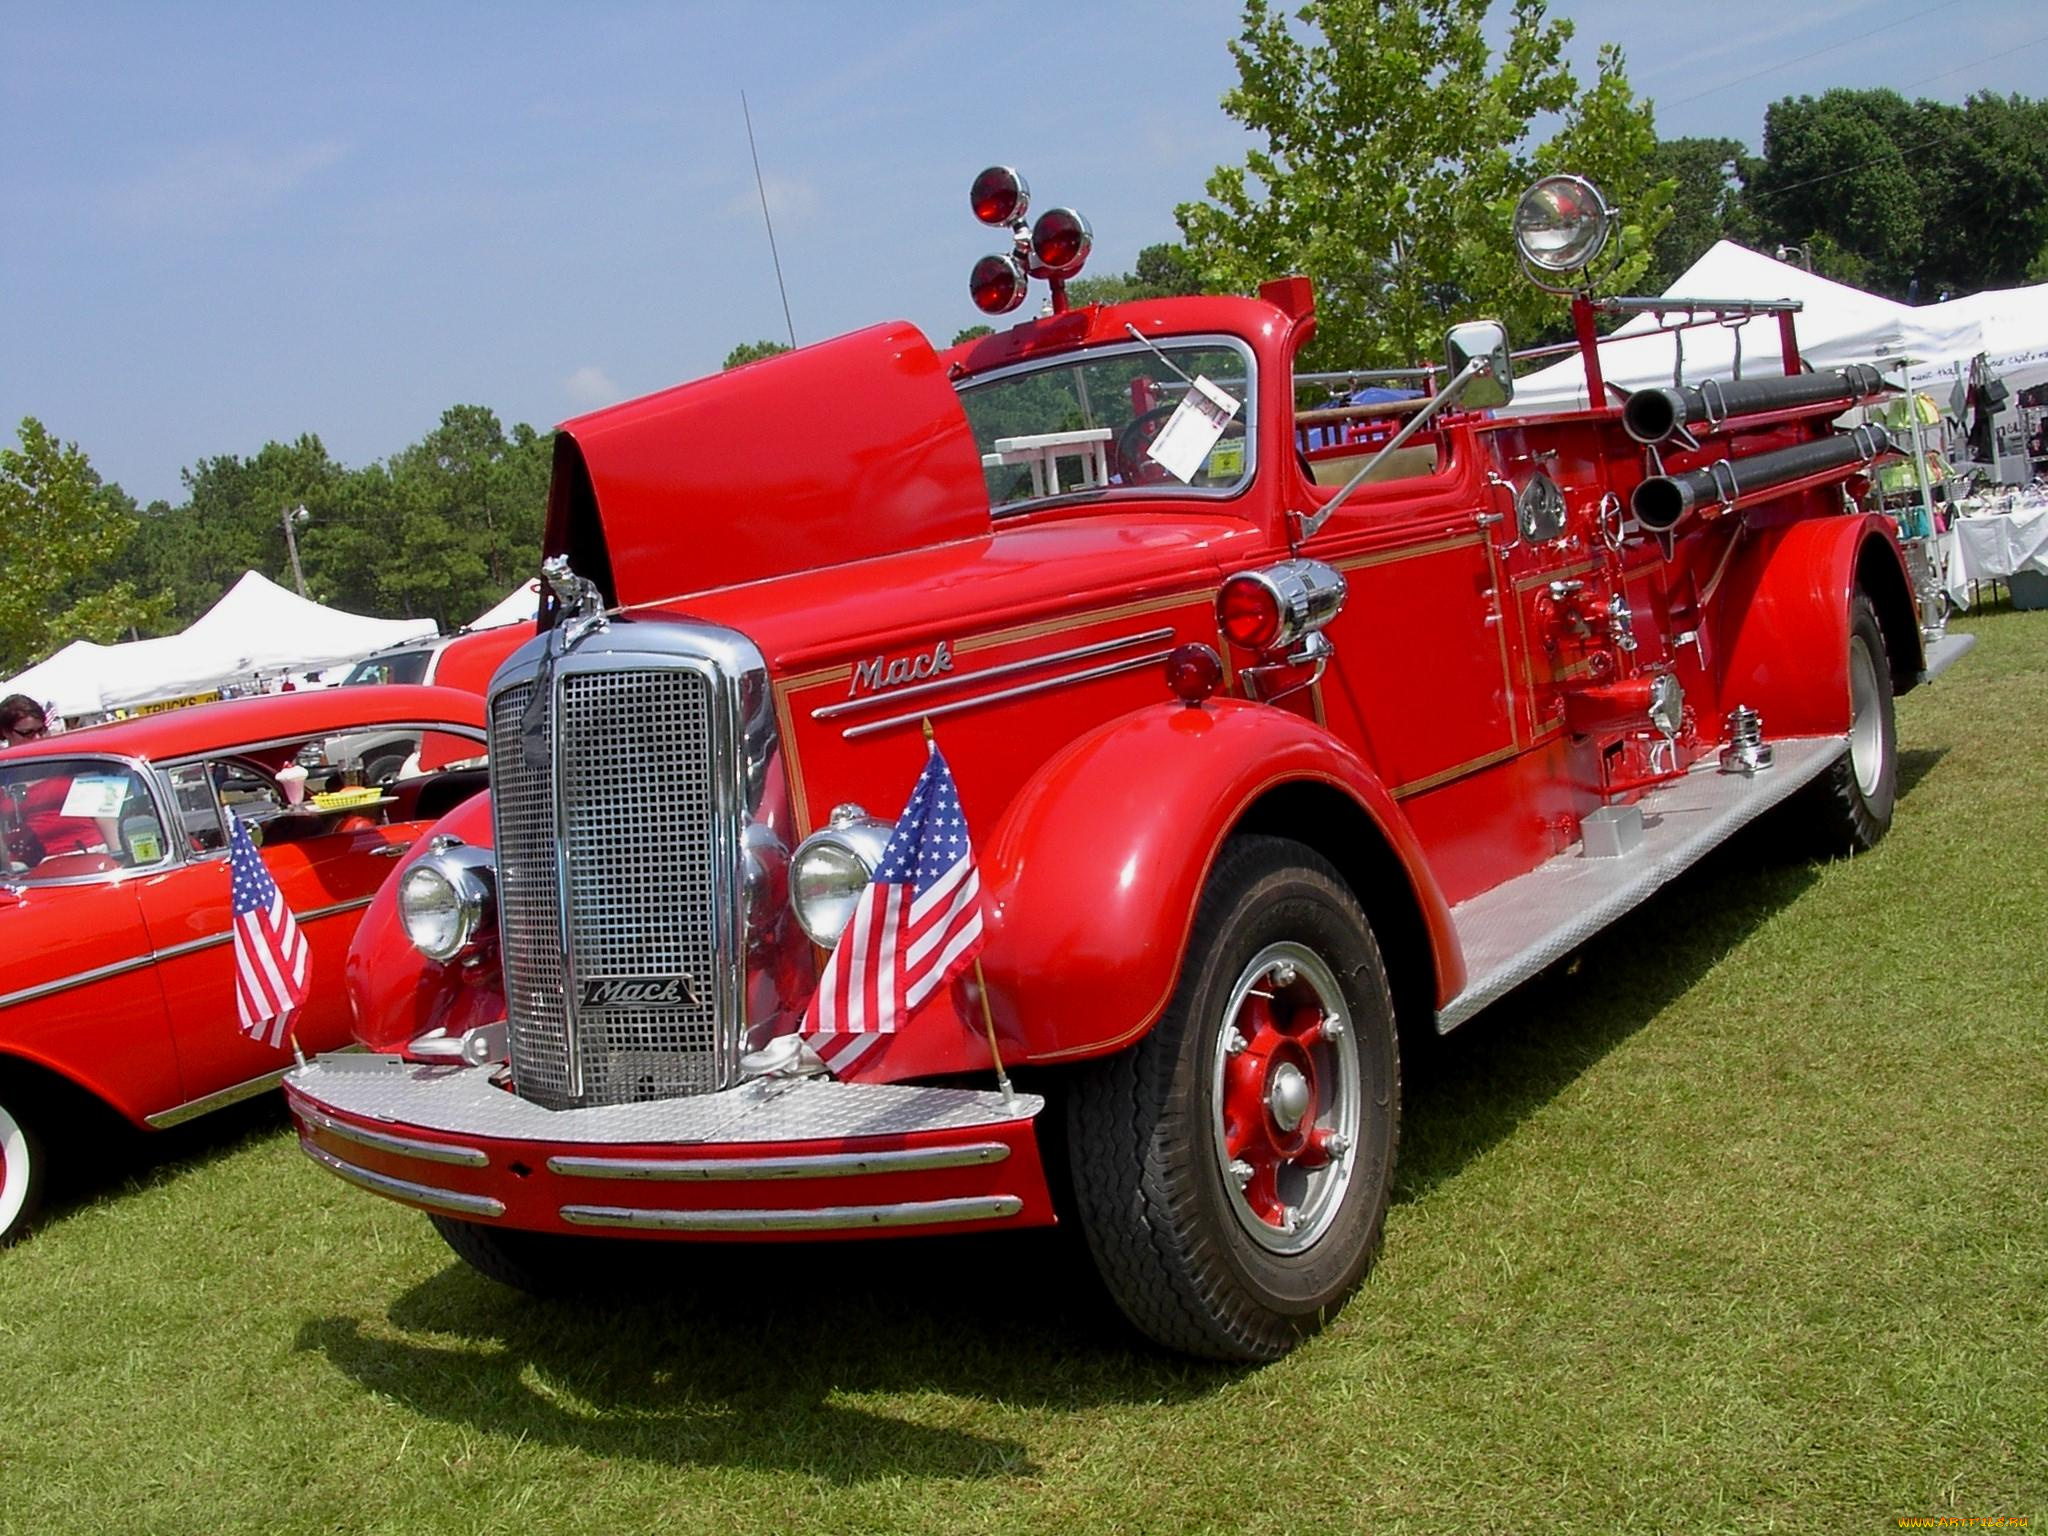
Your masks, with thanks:
[[(0, 1243), (33, 1221), (82, 1098), (162, 1128), (272, 1087), (289, 1047), (236, 1022), (227, 817), (311, 948), (305, 1051), (348, 1040), (342, 958), (420, 829), (473, 793), (483, 702), (453, 688), (332, 688), (152, 715), (0, 754)], [(410, 729), (442, 768), (293, 803), (279, 772), (338, 731)], [(287, 774), (287, 780), (295, 774)], [(303, 793), (299, 784), (293, 791)]]

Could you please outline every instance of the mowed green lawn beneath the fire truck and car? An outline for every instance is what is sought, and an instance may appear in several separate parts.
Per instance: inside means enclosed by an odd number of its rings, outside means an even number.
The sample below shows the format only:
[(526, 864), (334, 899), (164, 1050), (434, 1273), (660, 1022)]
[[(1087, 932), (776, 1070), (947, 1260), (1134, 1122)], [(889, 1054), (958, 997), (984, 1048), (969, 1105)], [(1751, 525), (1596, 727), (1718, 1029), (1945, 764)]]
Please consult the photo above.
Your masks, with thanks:
[(1960, 627), (1878, 852), (1761, 829), (1407, 1065), (1386, 1253), (1276, 1366), (1057, 1233), (526, 1300), (270, 1106), (0, 1253), (0, 1530), (2040, 1526), (2048, 612)]

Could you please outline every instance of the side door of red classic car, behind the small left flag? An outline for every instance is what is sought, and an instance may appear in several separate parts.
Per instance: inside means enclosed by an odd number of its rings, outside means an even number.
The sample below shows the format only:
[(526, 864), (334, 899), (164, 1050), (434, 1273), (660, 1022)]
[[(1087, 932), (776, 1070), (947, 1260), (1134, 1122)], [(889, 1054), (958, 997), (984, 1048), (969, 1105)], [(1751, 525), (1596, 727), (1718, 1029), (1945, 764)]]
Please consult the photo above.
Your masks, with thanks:
[[(160, 965), (170, 1034), (197, 1104), (264, 1083), (291, 1061), (348, 1042), (342, 967), (362, 909), (391, 874), (418, 827), (377, 825), (369, 813), (287, 809), (274, 780), (233, 758), (164, 770), (188, 860), (143, 893), (143, 918), (166, 952)], [(371, 807), (375, 811), (375, 807)], [(233, 922), (227, 879), (227, 817), (260, 836), (260, 854), (311, 954), (307, 999), (276, 1042), (246, 1034), (236, 1012)]]

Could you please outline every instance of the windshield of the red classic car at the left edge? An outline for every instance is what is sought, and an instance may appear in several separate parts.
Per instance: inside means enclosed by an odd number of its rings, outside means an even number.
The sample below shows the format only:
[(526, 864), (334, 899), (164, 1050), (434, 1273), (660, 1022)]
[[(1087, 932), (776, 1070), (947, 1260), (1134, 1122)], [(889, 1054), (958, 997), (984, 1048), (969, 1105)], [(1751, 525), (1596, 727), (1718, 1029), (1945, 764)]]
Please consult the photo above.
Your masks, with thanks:
[(0, 838), (8, 881), (66, 881), (162, 864), (156, 799), (106, 758), (0, 762)]

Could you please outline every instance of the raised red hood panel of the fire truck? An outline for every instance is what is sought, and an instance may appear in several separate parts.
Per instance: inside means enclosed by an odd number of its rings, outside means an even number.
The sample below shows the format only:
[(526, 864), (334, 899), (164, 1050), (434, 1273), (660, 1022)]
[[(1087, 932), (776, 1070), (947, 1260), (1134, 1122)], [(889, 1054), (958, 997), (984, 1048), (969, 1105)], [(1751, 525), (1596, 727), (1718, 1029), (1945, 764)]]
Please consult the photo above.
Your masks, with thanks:
[(893, 322), (563, 422), (547, 549), (631, 604), (987, 530), (967, 414)]

